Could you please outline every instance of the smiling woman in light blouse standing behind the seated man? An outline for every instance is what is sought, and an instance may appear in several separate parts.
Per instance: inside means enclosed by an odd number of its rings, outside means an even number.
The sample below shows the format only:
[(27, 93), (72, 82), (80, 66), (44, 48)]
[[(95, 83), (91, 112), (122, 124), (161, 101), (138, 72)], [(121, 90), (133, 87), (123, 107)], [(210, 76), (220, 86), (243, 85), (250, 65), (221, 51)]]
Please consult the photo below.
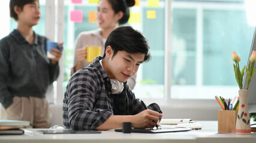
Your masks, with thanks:
[[(83, 67), (89, 66), (86, 61), (86, 48), (88, 46), (100, 46), (101, 56), (104, 54), (104, 45), (110, 32), (119, 27), (120, 24), (127, 23), (129, 19), (129, 7), (135, 4), (134, 0), (100, 0), (97, 11), (97, 30), (82, 32), (76, 39), (76, 54), (74, 57), (74, 67), (71, 75)], [(134, 75), (128, 80), (131, 89), (135, 86)]]

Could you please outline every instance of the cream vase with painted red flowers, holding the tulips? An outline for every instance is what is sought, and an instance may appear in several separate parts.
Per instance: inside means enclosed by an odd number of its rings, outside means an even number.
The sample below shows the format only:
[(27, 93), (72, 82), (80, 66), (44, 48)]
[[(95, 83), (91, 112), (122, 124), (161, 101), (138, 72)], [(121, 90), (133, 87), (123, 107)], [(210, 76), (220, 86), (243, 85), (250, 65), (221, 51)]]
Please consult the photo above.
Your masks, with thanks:
[(236, 134), (251, 133), (251, 124), (247, 102), (248, 94), (248, 90), (239, 90), (239, 109), (236, 118)]

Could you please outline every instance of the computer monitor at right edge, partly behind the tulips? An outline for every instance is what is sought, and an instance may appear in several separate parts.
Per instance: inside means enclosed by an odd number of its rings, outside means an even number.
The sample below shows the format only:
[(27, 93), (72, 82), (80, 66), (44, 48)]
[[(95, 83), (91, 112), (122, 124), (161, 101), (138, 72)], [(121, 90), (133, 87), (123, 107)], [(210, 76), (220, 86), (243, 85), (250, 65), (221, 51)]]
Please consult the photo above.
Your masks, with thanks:
[[(252, 46), (251, 46), (251, 50), (249, 53), (249, 58), (251, 57), (252, 51), (256, 51), (256, 29), (254, 32), (254, 38), (252, 39)], [(248, 58), (248, 63), (251, 63), (250, 60)], [(254, 65), (255, 67), (256, 65)], [(246, 89), (246, 80), (247, 80), (247, 76), (246, 76), (246, 72), (245, 72), (245, 80), (243, 81), (243, 89)], [(249, 95), (248, 95), (248, 110), (249, 113), (256, 113), (256, 75), (254, 75), (254, 77), (252, 77), (250, 85), (249, 85)]]

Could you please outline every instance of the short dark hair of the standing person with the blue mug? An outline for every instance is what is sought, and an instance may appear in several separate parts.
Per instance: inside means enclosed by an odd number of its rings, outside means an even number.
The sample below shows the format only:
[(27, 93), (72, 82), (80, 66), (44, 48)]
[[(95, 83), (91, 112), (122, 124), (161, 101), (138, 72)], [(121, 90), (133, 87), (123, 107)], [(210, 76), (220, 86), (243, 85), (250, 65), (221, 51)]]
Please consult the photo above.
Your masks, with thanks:
[(14, 18), (14, 20), (18, 20), (18, 15), (14, 11), (15, 5), (20, 7), (23, 10), (24, 5), (33, 4), (36, 0), (10, 0), (9, 8), (10, 8), (10, 17)]

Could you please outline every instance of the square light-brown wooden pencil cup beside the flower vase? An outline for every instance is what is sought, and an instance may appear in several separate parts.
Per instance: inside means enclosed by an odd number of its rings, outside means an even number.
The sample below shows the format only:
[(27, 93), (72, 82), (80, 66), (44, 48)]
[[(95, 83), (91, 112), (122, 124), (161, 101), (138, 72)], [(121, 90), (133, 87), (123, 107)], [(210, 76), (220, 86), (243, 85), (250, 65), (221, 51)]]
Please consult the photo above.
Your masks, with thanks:
[(218, 110), (218, 133), (236, 133), (237, 110)]

